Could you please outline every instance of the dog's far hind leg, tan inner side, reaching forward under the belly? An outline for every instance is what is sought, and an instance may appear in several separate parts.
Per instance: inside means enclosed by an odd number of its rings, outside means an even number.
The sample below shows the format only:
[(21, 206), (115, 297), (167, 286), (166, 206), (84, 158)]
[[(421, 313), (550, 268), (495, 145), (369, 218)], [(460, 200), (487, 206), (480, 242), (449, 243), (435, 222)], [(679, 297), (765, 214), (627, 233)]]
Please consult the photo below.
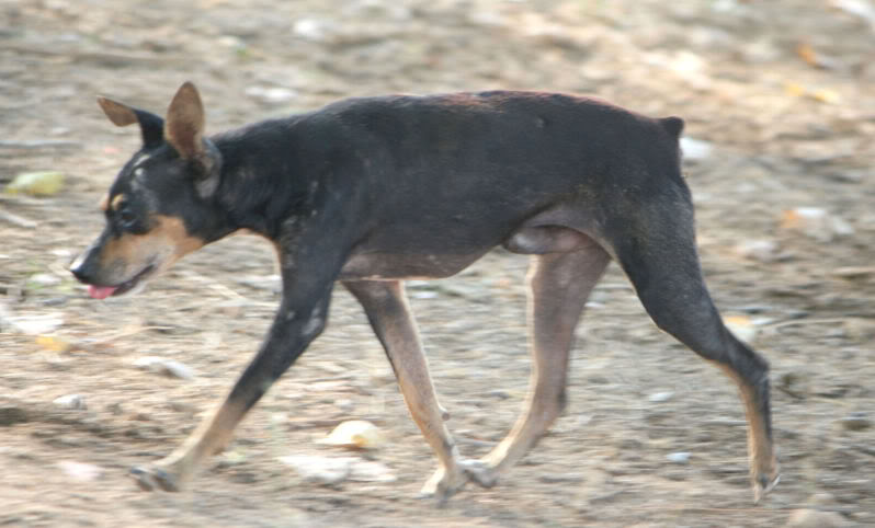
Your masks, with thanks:
[(485, 457), (482, 467), (468, 470), (484, 486), (495, 484), (499, 473), (520, 460), (561, 413), (575, 328), (610, 262), (609, 254), (591, 239), (571, 230), (550, 229), (553, 242), (566, 245), (573, 238), (577, 249), (532, 257), (527, 277), (533, 359), (530, 392), (511, 433)]

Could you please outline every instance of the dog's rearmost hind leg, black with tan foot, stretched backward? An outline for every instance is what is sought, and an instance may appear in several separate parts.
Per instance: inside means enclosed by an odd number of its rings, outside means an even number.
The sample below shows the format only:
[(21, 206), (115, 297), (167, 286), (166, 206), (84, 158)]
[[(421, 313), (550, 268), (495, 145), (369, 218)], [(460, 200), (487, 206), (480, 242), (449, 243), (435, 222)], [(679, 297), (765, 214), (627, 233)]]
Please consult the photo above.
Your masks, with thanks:
[(685, 186), (630, 200), (629, 214), (604, 226), (604, 239), (656, 324), (713, 361), (738, 384), (748, 420), (754, 501), (777, 482), (769, 405), (769, 364), (724, 325), (705, 287)]

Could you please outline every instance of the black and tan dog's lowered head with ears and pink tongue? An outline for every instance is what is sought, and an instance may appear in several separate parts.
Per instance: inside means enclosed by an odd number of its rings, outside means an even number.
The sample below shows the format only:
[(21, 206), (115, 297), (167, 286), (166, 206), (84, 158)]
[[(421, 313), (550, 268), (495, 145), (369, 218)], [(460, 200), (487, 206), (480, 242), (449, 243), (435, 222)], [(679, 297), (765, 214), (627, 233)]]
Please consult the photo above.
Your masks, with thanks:
[(143, 147), (101, 200), (103, 232), (70, 265), (89, 295), (103, 299), (134, 290), (217, 238), (221, 156), (204, 137), (204, 108), (189, 82), (166, 119), (105, 97), (98, 103), (115, 125), (137, 123), (143, 133)]

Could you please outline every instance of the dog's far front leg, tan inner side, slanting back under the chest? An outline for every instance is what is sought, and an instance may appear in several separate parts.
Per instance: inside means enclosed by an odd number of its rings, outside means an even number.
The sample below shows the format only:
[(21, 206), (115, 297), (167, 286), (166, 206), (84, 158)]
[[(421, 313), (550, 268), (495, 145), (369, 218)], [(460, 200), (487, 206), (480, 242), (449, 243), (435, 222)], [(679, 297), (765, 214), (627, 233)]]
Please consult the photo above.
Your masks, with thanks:
[(343, 285), (364, 307), (398, 379), (405, 402), (441, 467), (422, 494), (444, 502), (467, 482), (458, 449), (444, 425), (444, 411), (429, 374), (419, 332), (400, 282), (356, 280)]

